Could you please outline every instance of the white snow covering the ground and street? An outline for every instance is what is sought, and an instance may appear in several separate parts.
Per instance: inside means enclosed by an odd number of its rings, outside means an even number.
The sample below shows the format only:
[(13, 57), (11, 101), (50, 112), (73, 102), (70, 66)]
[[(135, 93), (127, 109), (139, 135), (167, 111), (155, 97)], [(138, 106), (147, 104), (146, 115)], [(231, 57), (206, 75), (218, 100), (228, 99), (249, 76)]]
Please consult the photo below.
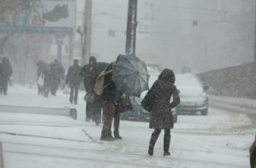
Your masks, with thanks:
[(171, 130), (171, 155), (163, 156), (162, 131), (154, 156), (150, 157), (147, 148), (152, 130), (148, 123), (121, 121), (123, 139), (101, 142), (102, 125), (84, 121), (84, 95), (81, 91), (78, 105), (72, 105), (61, 90), (57, 96), (45, 98), (37, 95), (36, 87), (15, 85), (9, 88), (8, 96), (0, 96), (0, 105), (75, 107), (78, 111), (78, 119), (74, 120), (64, 116), (7, 113), (0, 108), (4, 168), (249, 167), (248, 148), (255, 128), (243, 128), (252, 122), (245, 114), (210, 107), (208, 116), (179, 116)]

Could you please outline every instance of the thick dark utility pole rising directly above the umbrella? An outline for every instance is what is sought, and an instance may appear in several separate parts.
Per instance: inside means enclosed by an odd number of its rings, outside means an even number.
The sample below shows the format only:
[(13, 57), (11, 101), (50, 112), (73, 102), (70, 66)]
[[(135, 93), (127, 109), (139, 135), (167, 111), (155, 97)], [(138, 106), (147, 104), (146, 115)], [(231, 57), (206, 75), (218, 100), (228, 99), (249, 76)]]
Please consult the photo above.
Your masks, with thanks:
[(128, 20), (126, 31), (126, 55), (135, 55), (136, 51), (136, 28), (137, 28), (137, 0), (128, 0)]

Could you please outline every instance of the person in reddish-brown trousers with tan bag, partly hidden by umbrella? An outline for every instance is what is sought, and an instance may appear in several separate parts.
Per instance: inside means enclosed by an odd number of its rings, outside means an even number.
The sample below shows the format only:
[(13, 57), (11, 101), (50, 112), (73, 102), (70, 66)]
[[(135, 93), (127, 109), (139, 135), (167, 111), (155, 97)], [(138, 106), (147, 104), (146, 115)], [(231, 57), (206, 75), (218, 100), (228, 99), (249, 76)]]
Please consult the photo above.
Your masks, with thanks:
[(115, 115), (115, 103), (116, 103), (116, 84), (111, 79), (112, 72), (112, 64), (105, 69), (104, 75), (104, 90), (101, 95), (101, 98), (104, 100), (103, 102), (103, 127), (101, 130), (100, 140), (102, 141), (113, 141), (115, 138), (111, 136), (110, 126), (113, 121)]

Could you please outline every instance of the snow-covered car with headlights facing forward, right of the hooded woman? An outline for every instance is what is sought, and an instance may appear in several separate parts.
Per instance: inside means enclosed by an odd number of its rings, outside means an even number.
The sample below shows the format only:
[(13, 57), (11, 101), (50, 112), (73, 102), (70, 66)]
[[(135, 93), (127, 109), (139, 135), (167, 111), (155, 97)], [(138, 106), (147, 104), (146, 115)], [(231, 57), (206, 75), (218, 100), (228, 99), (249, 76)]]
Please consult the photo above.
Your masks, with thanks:
[(180, 114), (197, 113), (208, 114), (208, 96), (199, 78), (193, 73), (176, 74), (176, 87), (180, 91), (180, 104), (173, 111)]

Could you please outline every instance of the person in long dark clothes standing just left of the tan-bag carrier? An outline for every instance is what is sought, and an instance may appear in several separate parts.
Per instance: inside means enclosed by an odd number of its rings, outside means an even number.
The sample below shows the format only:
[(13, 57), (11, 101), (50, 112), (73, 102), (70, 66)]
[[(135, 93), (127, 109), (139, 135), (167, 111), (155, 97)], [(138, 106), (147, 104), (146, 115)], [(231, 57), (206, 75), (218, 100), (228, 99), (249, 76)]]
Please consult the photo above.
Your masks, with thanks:
[[(89, 64), (81, 68), (80, 76), (84, 78), (86, 94), (93, 92), (96, 78), (98, 78), (98, 74), (101, 70), (101, 68), (98, 68), (98, 62), (94, 56), (89, 58)], [(101, 108), (102, 100), (99, 96), (95, 96), (93, 101), (87, 101), (86, 121), (90, 121), (92, 119), (96, 125), (99, 125), (101, 122)]]

